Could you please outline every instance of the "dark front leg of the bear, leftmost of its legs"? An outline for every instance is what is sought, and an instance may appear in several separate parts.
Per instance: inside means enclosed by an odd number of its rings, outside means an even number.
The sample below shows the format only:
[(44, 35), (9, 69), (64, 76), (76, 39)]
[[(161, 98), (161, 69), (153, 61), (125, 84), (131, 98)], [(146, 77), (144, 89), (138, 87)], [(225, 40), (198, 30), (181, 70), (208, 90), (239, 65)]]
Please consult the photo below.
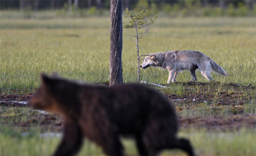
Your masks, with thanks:
[(71, 156), (78, 152), (83, 142), (81, 128), (74, 121), (65, 121), (62, 141), (54, 156)]

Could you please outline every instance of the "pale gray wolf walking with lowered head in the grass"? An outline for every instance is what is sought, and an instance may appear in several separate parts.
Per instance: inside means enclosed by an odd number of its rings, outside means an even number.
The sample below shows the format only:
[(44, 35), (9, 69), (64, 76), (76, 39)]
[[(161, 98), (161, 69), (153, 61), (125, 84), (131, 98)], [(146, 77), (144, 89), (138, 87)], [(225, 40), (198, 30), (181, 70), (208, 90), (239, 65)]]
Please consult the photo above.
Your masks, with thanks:
[(205, 54), (192, 50), (185, 51), (167, 51), (166, 53), (153, 53), (145, 57), (144, 62), (140, 65), (142, 69), (150, 66), (161, 67), (169, 71), (167, 83), (176, 82), (178, 72), (189, 70), (192, 76), (191, 81), (197, 81), (196, 70), (199, 69), (201, 74), (207, 80), (214, 80), (210, 72), (214, 71), (222, 76), (228, 76), (223, 68), (215, 63)]

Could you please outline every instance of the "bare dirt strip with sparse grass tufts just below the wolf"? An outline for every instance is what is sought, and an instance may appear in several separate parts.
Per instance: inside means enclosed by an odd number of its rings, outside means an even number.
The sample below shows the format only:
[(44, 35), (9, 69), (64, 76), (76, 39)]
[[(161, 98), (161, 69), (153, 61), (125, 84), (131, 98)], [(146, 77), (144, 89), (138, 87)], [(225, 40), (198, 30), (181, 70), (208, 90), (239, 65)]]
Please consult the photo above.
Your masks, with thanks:
[(205, 83), (205, 82), (176, 82), (173, 86), (183, 86), (183, 95), (164, 94), (174, 103), (218, 103), (223, 105), (251, 102), (256, 98), (255, 86), (237, 83)]

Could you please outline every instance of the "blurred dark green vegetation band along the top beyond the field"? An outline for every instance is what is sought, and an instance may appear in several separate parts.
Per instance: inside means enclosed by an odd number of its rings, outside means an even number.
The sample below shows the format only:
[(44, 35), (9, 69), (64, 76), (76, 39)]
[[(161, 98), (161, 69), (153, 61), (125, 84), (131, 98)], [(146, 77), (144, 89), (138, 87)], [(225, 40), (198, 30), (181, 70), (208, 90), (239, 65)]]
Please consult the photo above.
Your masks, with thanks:
[[(123, 0), (126, 8), (165, 17), (256, 16), (256, 0)], [(109, 16), (110, 0), (1, 0), (0, 9), (1, 18)]]

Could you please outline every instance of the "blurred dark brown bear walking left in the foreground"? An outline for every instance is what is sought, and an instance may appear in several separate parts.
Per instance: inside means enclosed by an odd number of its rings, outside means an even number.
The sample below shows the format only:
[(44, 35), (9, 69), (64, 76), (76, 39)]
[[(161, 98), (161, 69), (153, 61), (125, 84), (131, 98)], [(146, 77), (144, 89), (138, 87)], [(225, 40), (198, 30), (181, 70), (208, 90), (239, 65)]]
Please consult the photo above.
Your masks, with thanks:
[(63, 116), (63, 138), (55, 156), (74, 155), (83, 137), (102, 147), (107, 155), (121, 156), (120, 136), (134, 137), (140, 155), (180, 148), (194, 150), (178, 139), (178, 123), (172, 104), (157, 91), (139, 84), (111, 87), (78, 84), (41, 75), (41, 85), (29, 105)]

